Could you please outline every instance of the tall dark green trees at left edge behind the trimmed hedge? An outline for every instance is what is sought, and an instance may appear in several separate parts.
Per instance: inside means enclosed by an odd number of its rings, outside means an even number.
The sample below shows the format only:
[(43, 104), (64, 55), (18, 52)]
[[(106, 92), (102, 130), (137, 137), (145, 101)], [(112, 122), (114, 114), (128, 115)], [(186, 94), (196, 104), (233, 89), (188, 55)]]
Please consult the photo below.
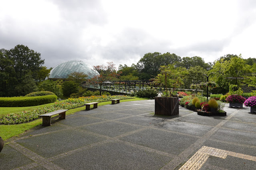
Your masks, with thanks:
[[(16, 45), (10, 50), (0, 49), (0, 96), (12, 97), (32, 92), (32, 81), (38, 79), (38, 71), (43, 63), (40, 53), (24, 45)], [(25, 81), (30, 84), (23, 91)]]

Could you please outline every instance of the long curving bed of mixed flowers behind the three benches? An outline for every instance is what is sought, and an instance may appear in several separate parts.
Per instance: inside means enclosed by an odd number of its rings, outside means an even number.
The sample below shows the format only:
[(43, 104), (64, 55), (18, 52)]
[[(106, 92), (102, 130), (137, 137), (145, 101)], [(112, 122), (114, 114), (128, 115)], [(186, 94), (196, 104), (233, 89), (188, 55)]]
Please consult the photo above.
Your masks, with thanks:
[(103, 101), (111, 101), (111, 99), (133, 99), (135, 97), (125, 96), (125, 95), (113, 95), (113, 96), (91, 96), (91, 97), (79, 97), (75, 99), (67, 99), (64, 102), (55, 103), (54, 105), (48, 107), (42, 107), (35, 109), (33, 111), (23, 111), (19, 113), (13, 113), (10, 115), (5, 115), (0, 117), (0, 125), (13, 125), (26, 123), (29, 121), (33, 121), (39, 118), (39, 115), (49, 113), (52, 111), (56, 111), (59, 109), (75, 109), (77, 107), (81, 107), (84, 103), (89, 102), (103, 102)]

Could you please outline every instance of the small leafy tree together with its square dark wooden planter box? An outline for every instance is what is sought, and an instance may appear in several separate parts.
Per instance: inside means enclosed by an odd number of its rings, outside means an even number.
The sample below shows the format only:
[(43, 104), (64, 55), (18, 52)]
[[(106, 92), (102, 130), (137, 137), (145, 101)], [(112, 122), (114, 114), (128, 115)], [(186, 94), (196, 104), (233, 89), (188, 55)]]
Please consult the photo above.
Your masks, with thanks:
[(181, 83), (179, 70), (174, 65), (161, 66), (160, 74), (155, 77), (154, 84), (164, 87), (161, 97), (155, 97), (155, 114), (157, 115), (178, 115), (179, 98), (173, 96), (174, 90)]

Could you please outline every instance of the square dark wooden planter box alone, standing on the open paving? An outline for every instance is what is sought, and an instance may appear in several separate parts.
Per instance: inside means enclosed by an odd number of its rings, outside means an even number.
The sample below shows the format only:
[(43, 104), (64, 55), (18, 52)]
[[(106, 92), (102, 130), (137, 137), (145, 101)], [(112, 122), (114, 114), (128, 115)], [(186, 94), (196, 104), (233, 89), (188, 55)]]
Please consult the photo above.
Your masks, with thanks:
[(179, 97), (155, 97), (156, 115), (179, 115)]

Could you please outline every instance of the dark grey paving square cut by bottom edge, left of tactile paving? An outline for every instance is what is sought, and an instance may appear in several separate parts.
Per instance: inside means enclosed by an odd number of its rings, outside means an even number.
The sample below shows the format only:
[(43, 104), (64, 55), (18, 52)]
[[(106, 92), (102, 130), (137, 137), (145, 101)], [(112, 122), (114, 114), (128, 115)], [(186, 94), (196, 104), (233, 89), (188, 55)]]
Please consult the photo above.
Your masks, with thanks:
[(71, 156), (54, 160), (53, 162), (67, 170), (152, 170), (160, 169), (170, 160), (171, 158), (167, 156), (147, 152), (126, 144), (111, 142), (104, 146), (89, 148)]

